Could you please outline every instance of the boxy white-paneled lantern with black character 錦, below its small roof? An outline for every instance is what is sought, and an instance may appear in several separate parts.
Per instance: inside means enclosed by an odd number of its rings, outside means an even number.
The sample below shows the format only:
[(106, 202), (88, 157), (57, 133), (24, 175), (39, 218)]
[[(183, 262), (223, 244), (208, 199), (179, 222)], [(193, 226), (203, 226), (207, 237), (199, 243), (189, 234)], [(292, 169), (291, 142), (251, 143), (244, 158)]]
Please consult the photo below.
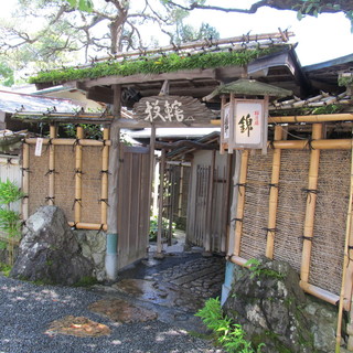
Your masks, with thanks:
[[(221, 145), (236, 149), (267, 147), (267, 104), (265, 99), (234, 99), (222, 109)], [(222, 151), (222, 150), (221, 150)]]

